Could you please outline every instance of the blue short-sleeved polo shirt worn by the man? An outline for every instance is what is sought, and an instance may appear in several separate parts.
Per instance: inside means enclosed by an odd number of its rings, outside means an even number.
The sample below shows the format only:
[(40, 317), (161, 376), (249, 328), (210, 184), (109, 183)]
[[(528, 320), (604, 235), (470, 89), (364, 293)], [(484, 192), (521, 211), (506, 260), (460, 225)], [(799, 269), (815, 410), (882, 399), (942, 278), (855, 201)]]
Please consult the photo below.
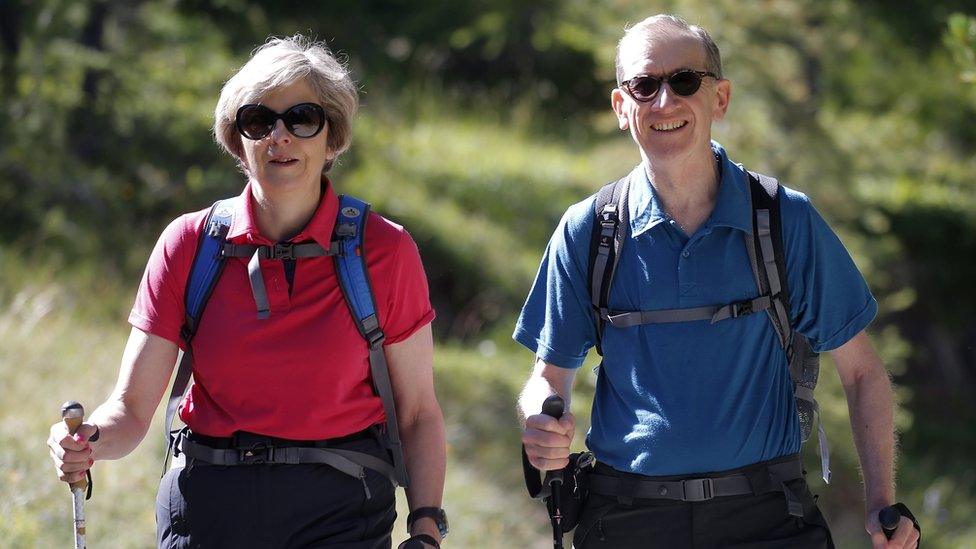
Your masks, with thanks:
[[(724, 305), (758, 294), (744, 243), (748, 176), (712, 143), (715, 209), (689, 235), (658, 202), (643, 165), (630, 175), (630, 237), (610, 289), (613, 310)], [(840, 347), (878, 306), (850, 254), (797, 191), (781, 187), (793, 327), (814, 350)], [(596, 341), (588, 291), (595, 196), (569, 208), (546, 248), (515, 329), (542, 360), (579, 368)], [(611, 467), (644, 475), (723, 471), (800, 450), (786, 355), (766, 314), (607, 325), (587, 446)]]

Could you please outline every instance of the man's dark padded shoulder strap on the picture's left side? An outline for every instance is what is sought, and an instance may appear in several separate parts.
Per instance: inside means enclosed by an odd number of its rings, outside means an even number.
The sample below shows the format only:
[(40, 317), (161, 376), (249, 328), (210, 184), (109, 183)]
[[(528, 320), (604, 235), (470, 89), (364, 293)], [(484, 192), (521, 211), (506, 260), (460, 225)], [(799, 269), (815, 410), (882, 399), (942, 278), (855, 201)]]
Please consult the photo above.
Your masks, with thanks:
[(590, 300), (596, 322), (596, 349), (603, 355), (602, 339), (605, 318), (609, 313), (610, 286), (617, 270), (620, 252), (630, 233), (630, 211), (627, 195), (630, 175), (604, 185), (593, 206), (593, 229), (590, 233)]

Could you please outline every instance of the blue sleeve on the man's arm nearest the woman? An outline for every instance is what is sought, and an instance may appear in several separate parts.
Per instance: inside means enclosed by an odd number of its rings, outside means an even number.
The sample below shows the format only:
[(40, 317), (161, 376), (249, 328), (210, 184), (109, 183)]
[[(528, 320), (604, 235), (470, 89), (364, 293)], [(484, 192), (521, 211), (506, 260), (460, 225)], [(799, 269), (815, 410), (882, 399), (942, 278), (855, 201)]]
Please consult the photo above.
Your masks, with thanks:
[(553, 233), (514, 339), (550, 364), (579, 368), (596, 341), (587, 291), (593, 199), (572, 206)]

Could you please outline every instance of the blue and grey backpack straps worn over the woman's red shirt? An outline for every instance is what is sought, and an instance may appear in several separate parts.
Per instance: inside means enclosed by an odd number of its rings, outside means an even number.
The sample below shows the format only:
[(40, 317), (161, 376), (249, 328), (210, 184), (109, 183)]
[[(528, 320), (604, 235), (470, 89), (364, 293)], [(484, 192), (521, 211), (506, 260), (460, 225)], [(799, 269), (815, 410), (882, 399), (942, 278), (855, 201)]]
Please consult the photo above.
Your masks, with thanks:
[[(396, 409), (393, 400), (393, 388), (390, 383), (390, 373), (383, 353), (385, 335), (379, 324), (376, 313), (376, 301), (373, 297), (369, 272), (366, 268), (366, 252), (363, 247), (363, 233), (366, 229), (366, 219), (370, 205), (355, 197), (339, 196), (339, 211), (335, 228), (332, 233), (331, 244), (328, 249), (317, 243), (303, 244), (273, 244), (270, 246), (240, 245), (227, 242), (227, 233), (234, 219), (234, 200), (229, 198), (219, 200), (210, 208), (204, 224), (204, 232), (200, 235), (196, 255), (190, 269), (186, 285), (186, 316), (180, 330), (180, 337), (186, 344), (186, 352), (181, 352), (176, 380), (170, 391), (169, 403), (166, 407), (165, 434), (168, 461), (179, 433), (173, 430), (173, 418), (180, 401), (185, 396), (192, 375), (192, 347), (193, 336), (197, 332), (200, 318), (210, 298), (213, 289), (220, 279), (225, 259), (228, 257), (250, 257), (248, 263), (248, 277), (251, 290), (257, 303), (258, 318), (268, 318), (270, 307), (268, 296), (261, 277), (259, 257), (265, 259), (295, 259), (299, 257), (331, 256), (339, 280), (339, 287), (345, 298), (349, 312), (356, 321), (356, 327), (369, 348), (370, 375), (373, 380), (373, 390), (383, 403), (386, 414), (386, 428), (384, 444), (393, 455), (393, 471), (390, 480), (399, 486), (409, 484), (406, 464), (403, 458), (403, 446), (400, 442), (400, 431), (397, 427)], [(346, 452), (347, 454), (352, 452)], [(364, 454), (365, 455), (365, 454)], [(366, 456), (367, 458), (369, 456)], [(355, 460), (354, 460), (355, 461)], [(164, 473), (165, 473), (164, 464)]]

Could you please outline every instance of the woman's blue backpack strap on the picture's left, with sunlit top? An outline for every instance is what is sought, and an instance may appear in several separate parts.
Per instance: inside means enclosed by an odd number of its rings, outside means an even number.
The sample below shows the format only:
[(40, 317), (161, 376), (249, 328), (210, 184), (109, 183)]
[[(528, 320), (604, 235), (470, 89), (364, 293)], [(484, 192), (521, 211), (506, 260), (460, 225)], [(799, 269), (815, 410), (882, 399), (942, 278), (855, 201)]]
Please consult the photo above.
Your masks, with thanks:
[(180, 329), (180, 338), (183, 340), (186, 350), (180, 353), (179, 367), (176, 370), (176, 380), (170, 390), (169, 402), (166, 405), (166, 422), (163, 425), (166, 435), (166, 458), (163, 461), (163, 474), (169, 462), (169, 456), (174, 448), (175, 433), (173, 432), (173, 419), (176, 417), (176, 408), (186, 393), (190, 383), (190, 376), (193, 373), (193, 352), (191, 343), (193, 336), (197, 333), (200, 324), (200, 317), (203, 310), (213, 293), (217, 279), (224, 269), (224, 255), (221, 253), (230, 224), (234, 220), (234, 198), (218, 200), (210, 207), (207, 214), (207, 221), (204, 223), (204, 230), (200, 234), (200, 241), (197, 243), (197, 251), (193, 256), (193, 265), (190, 267), (190, 276), (186, 282), (186, 293), (184, 304), (186, 306), (186, 316), (183, 320), (183, 327)]

